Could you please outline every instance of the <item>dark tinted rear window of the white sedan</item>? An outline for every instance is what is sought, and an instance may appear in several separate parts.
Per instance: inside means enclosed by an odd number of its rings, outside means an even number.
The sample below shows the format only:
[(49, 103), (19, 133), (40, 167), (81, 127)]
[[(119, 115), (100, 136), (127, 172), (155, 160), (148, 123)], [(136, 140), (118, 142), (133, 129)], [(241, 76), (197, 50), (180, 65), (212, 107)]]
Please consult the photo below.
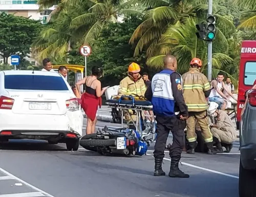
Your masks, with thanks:
[(61, 77), (40, 75), (6, 75), (5, 89), (69, 90)]

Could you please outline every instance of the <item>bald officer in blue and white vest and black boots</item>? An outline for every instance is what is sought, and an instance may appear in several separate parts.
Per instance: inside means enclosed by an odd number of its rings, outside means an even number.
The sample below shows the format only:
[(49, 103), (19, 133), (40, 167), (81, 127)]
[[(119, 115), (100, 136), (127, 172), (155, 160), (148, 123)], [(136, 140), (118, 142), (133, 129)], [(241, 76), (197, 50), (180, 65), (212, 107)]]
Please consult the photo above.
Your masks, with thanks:
[(189, 178), (179, 169), (181, 152), (185, 146), (186, 118), (188, 116), (182, 91), (182, 79), (177, 70), (177, 60), (172, 55), (164, 57), (164, 69), (152, 79), (152, 85), (147, 88), (145, 97), (153, 104), (157, 121), (157, 139), (155, 144), (154, 176), (165, 176), (162, 170), (165, 144), (169, 131), (173, 133), (173, 144), (169, 150), (169, 177)]

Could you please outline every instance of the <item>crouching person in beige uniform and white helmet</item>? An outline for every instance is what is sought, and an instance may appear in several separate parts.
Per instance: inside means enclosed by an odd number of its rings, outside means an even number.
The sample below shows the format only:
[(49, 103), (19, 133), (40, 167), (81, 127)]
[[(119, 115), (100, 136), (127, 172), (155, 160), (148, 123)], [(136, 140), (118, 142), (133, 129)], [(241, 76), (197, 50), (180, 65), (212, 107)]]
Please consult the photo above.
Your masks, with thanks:
[(222, 146), (225, 147), (225, 153), (229, 153), (232, 149), (232, 142), (236, 141), (237, 131), (234, 129), (232, 120), (228, 114), (218, 109), (219, 105), (210, 102), (208, 114), (215, 118), (214, 124), (211, 125), (210, 131), (214, 135), (218, 153), (223, 153)]

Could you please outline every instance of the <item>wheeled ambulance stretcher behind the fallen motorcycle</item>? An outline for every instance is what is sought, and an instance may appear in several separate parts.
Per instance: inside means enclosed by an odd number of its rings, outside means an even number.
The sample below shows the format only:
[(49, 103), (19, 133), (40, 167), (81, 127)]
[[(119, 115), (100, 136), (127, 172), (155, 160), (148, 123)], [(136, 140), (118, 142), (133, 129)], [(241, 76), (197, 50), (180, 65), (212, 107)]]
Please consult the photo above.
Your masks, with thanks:
[[(123, 98), (128, 98), (132, 100), (132, 104), (122, 104), (121, 101)], [(112, 100), (112, 99), (111, 99)], [(134, 125), (134, 127), (136, 128), (136, 131), (140, 133), (140, 136), (142, 137), (142, 139), (144, 139), (147, 143), (149, 142), (153, 142), (156, 140), (156, 118), (155, 115), (150, 115), (150, 111), (153, 111), (153, 105), (136, 105), (135, 104), (135, 99), (133, 96), (121, 96), (121, 98), (115, 101), (115, 103), (111, 103), (108, 100), (106, 102), (106, 105), (108, 105), (109, 108), (115, 108), (120, 110), (121, 112), (121, 128), (124, 128), (123, 126), (123, 117), (124, 117), (124, 113), (127, 112), (127, 114), (129, 114), (130, 117), (130, 121), (132, 122), (132, 124)], [(114, 101), (114, 100), (113, 100)], [(135, 112), (135, 114), (131, 114), (129, 112), (129, 110), (133, 110)], [(144, 111), (148, 112), (148, 114), (144, 113)], [(148, 117), (153, 117), (153, 120), (151, 120), (151, 124), (150, 126), (148, 126), (146, 124), (145, 119), (142, 118), (142, 113), (143, 116), (145, 118)], [(133, 119), (133, 115), (136, 115), (136, 120)], [(143, 133), (142, 131), (142, 124), (145, 126), (145, 130), (147, 131), (147, 133)], [(148, 136), (153, 135), (152, 138), (147, 139)]]

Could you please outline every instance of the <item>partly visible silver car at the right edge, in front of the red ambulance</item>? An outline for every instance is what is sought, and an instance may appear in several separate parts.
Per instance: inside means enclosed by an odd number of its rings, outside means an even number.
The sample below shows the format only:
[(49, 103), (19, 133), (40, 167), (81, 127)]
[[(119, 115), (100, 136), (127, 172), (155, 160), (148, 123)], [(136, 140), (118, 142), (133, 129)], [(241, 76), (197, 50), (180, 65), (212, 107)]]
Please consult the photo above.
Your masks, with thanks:
[(240, 154), (239, 196), (256, 196), (256, 80), (241, 112)]

